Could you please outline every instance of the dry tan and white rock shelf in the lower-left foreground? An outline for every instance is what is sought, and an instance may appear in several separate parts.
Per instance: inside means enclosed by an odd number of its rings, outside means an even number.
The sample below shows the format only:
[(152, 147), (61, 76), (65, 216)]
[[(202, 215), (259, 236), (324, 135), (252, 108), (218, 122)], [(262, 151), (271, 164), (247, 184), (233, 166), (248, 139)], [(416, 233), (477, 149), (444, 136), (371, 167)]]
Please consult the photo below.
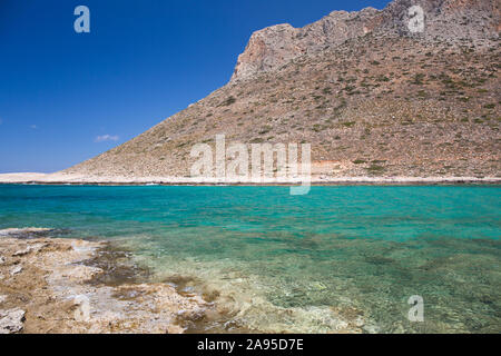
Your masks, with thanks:
[(212, 304), (145, 270), (101, 241), (0, 230), (0, 334), (180, 334)]

